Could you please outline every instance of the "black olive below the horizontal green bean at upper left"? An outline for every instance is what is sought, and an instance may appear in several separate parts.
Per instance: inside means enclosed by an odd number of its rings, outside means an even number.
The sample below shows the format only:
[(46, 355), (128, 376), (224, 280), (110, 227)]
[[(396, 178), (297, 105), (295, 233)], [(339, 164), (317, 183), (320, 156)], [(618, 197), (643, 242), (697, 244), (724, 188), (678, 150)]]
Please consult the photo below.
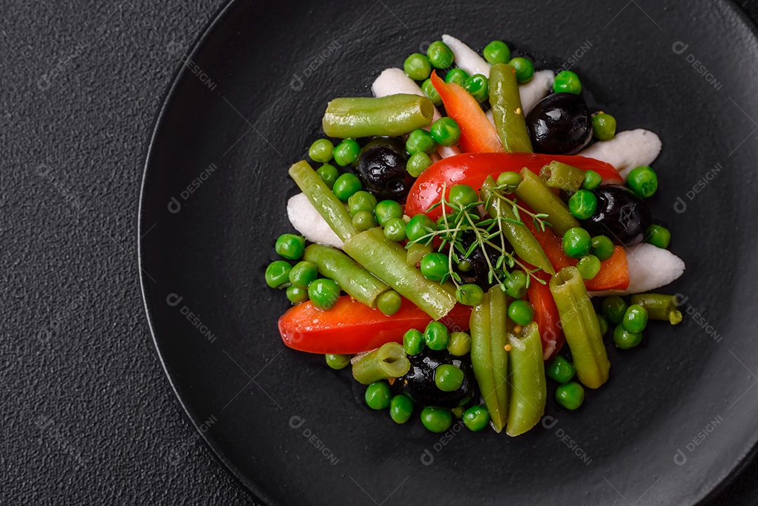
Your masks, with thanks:
[(411, 189), (406, 172), (406, 145), (395, 137), (374, 139), (361, 150), (356, 172), (363, 186), (380, 200), (403, 201)]

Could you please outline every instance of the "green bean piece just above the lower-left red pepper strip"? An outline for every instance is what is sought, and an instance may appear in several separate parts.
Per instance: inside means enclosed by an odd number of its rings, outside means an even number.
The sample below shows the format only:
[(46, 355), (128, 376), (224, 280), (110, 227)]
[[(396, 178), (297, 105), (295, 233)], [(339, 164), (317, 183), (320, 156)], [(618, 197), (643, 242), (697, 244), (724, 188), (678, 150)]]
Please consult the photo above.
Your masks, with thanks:
[(347, 295), (371, 308), (376, 306), (377, 297), (390, 289), (337, 248), (309, 245), (305, 248), (305, 260), (316, 264), (321, 276), (336, 281)]

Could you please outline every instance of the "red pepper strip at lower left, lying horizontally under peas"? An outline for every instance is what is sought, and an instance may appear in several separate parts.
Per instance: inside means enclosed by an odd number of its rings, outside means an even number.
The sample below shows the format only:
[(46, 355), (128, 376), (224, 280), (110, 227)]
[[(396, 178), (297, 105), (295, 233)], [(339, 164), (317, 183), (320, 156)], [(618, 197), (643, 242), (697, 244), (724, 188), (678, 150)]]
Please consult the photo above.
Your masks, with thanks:
[[(468, 330), (470, 317), (471, 307), (458, 304), (440, 322), (456, 332)], [(399, 311), (387, 316), (343, 295), (329, 311), (310, 301), (293, 306), (279, 318), (279, 333), (285, 345), (299, 351), (353, 354), (402, 342), (407, 330), (423, 331), (429, 322), (431, 317), (405, 298)]]

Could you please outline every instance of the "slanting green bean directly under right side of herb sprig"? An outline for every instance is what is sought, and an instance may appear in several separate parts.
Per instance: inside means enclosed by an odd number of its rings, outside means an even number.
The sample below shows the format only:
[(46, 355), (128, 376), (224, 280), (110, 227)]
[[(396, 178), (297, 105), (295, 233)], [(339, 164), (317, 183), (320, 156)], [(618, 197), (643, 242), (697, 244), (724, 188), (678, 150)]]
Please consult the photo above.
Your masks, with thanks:
[[(487, 213), (490, 217), (496, 218), (500, 215), (500, 226), (502, 227), (503, 234), (508, 239), (508, 242), (513, 246), (513, 251), (522, 258), (524, 261), (534, 265), (534, 267), (540, 267), (547, 273), (555, 274), (553, 264), (550, 264), (550, 260), (545, 254), (540, 243), (531, 233), (531, 230), (524, 224), (515, 223), (518, 220), (510, 205), (501, 201), (499, 198), (491, 197), (493, 189), (497, 186), (492, 176), (487, 176), (487, 180), (484, 180), (484, 184), (481, 186), (481, 199), (483, 201), (490, 201), (489, 207), (487, 207)], [(491, 198), (490, 198), (491, 197)], [(550, 217), (547, 218), (550, 220)]]

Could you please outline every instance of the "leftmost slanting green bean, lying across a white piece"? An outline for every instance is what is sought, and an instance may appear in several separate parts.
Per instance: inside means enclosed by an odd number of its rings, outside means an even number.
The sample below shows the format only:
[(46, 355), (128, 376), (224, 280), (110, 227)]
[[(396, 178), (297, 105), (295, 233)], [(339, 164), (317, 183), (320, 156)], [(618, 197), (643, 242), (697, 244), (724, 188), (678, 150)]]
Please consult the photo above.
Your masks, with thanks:
[(352, 226), (352, 217), (340, 199), (321, 180), (321, 177), (311, 168), (305, 160), (299, 161), (290, 167), (290, 177), (295, 180), (300, 190), (305, 193), (318, 214), (324, 218), (331, 230), (346, 241), (355, 236), (358, 231)]

